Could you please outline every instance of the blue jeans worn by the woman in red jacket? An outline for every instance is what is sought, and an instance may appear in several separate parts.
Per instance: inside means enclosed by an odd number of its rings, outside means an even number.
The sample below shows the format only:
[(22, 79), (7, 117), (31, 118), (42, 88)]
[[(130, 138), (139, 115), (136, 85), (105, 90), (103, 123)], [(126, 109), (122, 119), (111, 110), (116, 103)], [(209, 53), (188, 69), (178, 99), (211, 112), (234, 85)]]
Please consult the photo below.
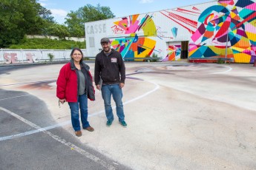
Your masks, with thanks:
[(79, 95), (77, 102), (68, 102), (71, 111), (71, 122), (75, 131), (81, 130), (79, 121), (79, 107), (81, 114), (82, 127), (87, 128), (90, 126), (88, 118), (88, 98), (87, 95)]

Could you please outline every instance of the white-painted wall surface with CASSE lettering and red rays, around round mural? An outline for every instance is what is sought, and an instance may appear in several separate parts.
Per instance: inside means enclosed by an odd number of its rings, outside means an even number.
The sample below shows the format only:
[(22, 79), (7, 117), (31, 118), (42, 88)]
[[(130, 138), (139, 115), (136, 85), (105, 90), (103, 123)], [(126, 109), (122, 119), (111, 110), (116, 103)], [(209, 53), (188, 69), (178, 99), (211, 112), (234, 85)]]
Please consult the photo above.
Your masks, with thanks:
[[(166, 48), (166, 44), (172, 41), (189, 41), (191, 39), (192, 32), (197, 30), (197, 20), (200, 16), (200, 12), (214, 4), (217, 4), (217, 2), (211, 1), (208, 3), (181, 7), (182, 11), (178, 8), (174, 8), (171, 10), (162, 10), (152, 13), (142, 13), (140, 16), (138, 16), (137, 20), (141, 22), (147, 14), (148, 16), (151, 16), (151, 19), (154, 21), (154, 25), (157, 29), (157, 35), (146, 36), (144, 30), (142, 29), (140, 31), (137, 30), (136, 33), (138, 36), (147, 37), (156, 41), (154, 52), (159, 57), (165, 58), (165, 56), (168, 55), (168, 46)], [(171, 7), (171, 4), (169, 4), (169, 6)], [(196, 7), (198, 10), (195, 10), (194, 7)], [(129, 20), (129, 17), (132, 16), (127, 16), (126, 18)], [(85, 23), (85, 40), (88, 56), (95, 56), (99, 50), (102, 49), (99, 43), (102, 37), (108, 37), (111, 40), (131, 37), (131, 33), (125, 34), (125, 31), (115, 24), (116, 21), (122, 21), (122, 18), (111, 18), (102, 21)], [(191, 23), (186, 21), (186, 19), (191, 20)], [(171, 28), (173, 27), (177, 28), (176, 37), (174, 37), (171, 31)], [(92, 41), (94, 41), (94, 43)]]

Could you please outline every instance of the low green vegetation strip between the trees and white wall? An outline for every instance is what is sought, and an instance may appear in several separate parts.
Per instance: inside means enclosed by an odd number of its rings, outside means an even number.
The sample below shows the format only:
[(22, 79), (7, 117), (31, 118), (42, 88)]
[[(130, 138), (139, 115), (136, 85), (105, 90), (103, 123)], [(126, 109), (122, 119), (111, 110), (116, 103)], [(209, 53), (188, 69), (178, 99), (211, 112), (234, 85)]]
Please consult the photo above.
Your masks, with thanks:
[(20, 44), (13, 44), (10, 49), (50, 49), (50, 50), (65, 50), (79, 47), (85, 49), (85, 41), (70, 41), (70, 40), (52, 40), (49, 38), (24, 38)]

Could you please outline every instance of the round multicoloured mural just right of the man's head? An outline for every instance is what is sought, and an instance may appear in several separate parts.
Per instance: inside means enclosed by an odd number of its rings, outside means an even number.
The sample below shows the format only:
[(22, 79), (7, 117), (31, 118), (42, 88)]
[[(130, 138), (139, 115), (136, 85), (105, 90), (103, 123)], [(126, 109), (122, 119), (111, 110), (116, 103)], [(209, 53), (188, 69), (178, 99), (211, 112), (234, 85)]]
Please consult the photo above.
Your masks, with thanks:
[[(149, 36), (157, 36), (157, 28), (152, 16), (145, 15), (139, 19), (140, 15), (133, 15), (115, 21), (111, 27), (115, 34), (129, 34), (125, 38), (116, 38), (111, 41), (111, 46), (121, 53), (122, 58), (145, 58), (154, 51), (156, 41)], [(137, 35), (142, 33), (142, 36)]]

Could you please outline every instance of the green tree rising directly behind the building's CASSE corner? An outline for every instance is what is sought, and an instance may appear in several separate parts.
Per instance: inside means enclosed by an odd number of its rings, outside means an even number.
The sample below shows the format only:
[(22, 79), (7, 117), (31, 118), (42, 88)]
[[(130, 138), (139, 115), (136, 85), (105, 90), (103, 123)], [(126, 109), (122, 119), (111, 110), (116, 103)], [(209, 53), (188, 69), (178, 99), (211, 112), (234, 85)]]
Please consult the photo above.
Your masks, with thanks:
[(99, 21), (114, 17), (110, 7), (101, 7), (100, 4), (97, 4), (96, 7), (94, 7), (91, 4), (87, 4), (85, 7), (80, 7), (79, 10), (70, 11), (67, 18), (65, 18), (65, 24), (68, 25), (68, 30), (71, 36), (84, 37), (85, 22)]

